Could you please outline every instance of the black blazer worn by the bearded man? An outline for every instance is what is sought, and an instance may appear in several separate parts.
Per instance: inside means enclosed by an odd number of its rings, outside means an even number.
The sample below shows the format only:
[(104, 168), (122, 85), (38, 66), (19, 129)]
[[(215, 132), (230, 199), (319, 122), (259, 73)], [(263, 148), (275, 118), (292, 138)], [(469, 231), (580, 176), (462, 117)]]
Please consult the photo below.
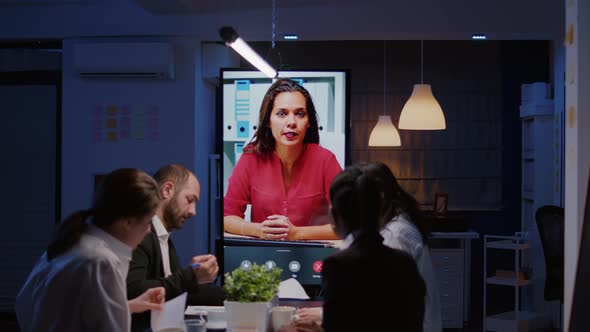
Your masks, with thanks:
[[(166, 301), (187, 292), (188, 305), (223, 305), (225, 293), (212, 284), (199, 285), (192, 268), (182, 267), (176, 249), (168, 240), (170, 271), (172, 275), (164, 277), (162, 251), (155, 230), (143, 239), (133, 251), (127, 274), (127, 298), (133, 299), (152, 287), (162, 286), (166, 289)], [(132, 315), (131, 330), (145, 331), (150, 327), (150, 313)]]

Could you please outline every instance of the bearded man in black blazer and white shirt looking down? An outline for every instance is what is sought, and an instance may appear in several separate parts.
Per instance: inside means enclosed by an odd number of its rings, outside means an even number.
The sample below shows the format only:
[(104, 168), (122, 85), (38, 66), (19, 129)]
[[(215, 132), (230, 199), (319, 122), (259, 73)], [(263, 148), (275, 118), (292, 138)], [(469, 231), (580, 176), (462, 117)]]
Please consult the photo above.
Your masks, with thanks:
[[(183, 166), (170, 164), (160, 168), (154, 178), (162, 202), (151, 220), (150, 232), (133, 251), (127, 275), (128, 296), (162, 286), (166, 289), (166, 300), (188, 292), (189, 305), (223, 305), (225, 293), (210, 284), (219, 271), (215, 256), (194, 256), (191, 264), (200, 263), (199, 267), (182, 267), (169, 238), (173, 230), (180, 229), (187, 219), (196, 215), (201, 192), (197, 177)], [(149, 327), (149, 313), (133, 315), (133, 331), (145, 331)]]

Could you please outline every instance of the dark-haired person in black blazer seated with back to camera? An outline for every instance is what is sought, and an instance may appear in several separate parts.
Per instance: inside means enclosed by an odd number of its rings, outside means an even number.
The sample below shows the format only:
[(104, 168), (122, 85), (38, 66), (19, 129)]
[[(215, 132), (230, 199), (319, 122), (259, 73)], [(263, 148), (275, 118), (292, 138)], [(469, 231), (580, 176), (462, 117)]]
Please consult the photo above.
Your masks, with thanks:
[[(324, 261), (325, 331), (422, 331), (426, 289), (416, 263), (383, 244), (381, 217), (389, 204), (379, 179), (346, 168), (330, 188), (336, 233), (350, 246)], [(311, 324), (313, 325), (313, 323)]]

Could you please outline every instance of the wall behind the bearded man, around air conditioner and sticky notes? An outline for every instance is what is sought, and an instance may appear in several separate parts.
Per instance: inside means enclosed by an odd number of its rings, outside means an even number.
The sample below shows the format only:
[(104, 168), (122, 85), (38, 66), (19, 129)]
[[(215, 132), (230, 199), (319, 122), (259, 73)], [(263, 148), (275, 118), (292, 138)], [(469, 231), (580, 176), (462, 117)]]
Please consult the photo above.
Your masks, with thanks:
[[(174, 80), (82, 80), (74, 73), (73, 47), (88, 41), (165, 41), (175, 51)], [(137, 167), (154, 173), (167, 163), (195, 171), (201, 182), (197, 216), (173, 237), (182, 262), (207, 251), (207, 156), (213, 150), (214, 95), (203, 93), (200, 83), (200, 41), (190, 37), (66, 39), (63, 52), (62, 214), (88, 207), (93, 175), (119, 167)], [(159, 138), (95, 142), (97, 106), (130, 105), (131, 109), (158, 107)], [(132, 119), (133, 121), (134, 119)]]

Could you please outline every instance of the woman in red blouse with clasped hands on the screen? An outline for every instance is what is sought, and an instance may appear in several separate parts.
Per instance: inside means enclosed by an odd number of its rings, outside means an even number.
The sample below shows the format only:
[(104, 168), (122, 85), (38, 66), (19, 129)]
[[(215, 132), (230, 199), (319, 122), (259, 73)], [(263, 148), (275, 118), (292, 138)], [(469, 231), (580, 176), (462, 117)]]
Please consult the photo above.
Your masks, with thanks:
[[(229, 177), (224, 230), (271, 240), (336, 239), (327, 217), (329, 188), (342, 169), (319, 137), (309, 92), (290, 79), (273, 83)], [(248, 204), (252, 222), (244, 220)]]

